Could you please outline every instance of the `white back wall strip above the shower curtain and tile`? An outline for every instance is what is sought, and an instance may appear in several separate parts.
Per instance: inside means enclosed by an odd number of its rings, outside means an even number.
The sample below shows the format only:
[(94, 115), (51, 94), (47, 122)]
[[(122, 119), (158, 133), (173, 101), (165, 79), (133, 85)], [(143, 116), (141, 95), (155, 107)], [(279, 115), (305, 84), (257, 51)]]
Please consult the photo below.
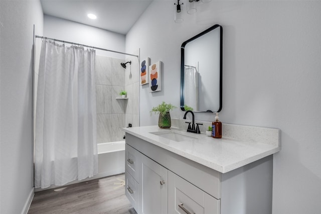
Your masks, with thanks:
[[(41, 35), (40, 35), (41, 36)], [(125, 52), (125, 35), (80, 23), (44, 16), (44, 37)], [(70, 44), (66, 44), (69, 45)], [(97, 55), (125, 59), (125, 55), (96, 50)]]

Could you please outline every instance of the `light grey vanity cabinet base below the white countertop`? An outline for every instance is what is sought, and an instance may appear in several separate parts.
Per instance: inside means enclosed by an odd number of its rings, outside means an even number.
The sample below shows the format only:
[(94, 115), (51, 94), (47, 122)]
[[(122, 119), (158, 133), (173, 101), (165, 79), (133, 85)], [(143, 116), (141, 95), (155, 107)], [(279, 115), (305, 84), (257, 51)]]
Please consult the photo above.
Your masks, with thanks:
[(126, 196), (138, 214), (272, 212), (271, 155), (221, 173), (129, 133), (125, 154)]

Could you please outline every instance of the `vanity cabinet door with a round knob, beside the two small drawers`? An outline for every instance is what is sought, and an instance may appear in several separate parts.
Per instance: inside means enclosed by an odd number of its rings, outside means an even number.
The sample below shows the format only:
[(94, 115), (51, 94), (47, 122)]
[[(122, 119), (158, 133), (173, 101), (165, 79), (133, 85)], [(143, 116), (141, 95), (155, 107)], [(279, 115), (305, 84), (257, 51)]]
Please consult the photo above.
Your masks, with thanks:
[(168, 170), (142, 155), (139, 213), (168, 213)]

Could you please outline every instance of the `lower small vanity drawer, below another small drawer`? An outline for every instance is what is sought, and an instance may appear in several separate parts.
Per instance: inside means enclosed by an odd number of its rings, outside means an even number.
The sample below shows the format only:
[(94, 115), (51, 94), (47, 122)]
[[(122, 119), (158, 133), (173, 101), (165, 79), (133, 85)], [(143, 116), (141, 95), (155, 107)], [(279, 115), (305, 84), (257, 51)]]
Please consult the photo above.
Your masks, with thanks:
[(125, 194), (134, 209), (138, 211), (139, 185), (127, 170), (125, 170)]

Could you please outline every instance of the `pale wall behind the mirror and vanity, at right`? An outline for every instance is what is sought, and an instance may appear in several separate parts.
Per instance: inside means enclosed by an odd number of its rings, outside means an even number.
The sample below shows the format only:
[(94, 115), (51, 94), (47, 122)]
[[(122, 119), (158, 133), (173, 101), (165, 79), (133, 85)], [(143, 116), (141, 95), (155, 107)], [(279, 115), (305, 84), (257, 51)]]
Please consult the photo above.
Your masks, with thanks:
[[(180, 47), (223, 26), (224, 123), (281, 130), (274, 155), (273, 213), (321, 210), (321, 2), (212, 1), (174, 23), (173, 2), (154, 1), (126, 35), (126, 51), (163, 61), (163, 90), (140, 86), (140, 125), (156, 125), (152, 106), (180, 106)], [(172, 117), (182, 118), (177, 109)], [(196, 120), (212, 121), (208, 113)]]

